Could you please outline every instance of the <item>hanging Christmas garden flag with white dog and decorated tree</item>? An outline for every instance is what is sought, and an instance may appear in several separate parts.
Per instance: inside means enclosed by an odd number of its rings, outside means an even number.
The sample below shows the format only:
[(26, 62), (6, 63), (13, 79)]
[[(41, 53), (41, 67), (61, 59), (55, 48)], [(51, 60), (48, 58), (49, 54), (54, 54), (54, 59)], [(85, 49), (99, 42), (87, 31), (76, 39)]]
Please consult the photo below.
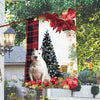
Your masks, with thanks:
[(25, 86), (74, 89), (78, 85), (76, 11), (27, 20)]

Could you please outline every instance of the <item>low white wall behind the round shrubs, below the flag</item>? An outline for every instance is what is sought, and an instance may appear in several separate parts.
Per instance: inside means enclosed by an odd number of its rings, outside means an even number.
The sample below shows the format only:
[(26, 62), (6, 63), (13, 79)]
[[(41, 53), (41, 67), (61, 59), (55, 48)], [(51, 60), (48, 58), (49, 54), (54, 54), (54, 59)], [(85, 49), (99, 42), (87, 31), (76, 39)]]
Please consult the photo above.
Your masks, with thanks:
[[(68, 97), (71, 97), (71, 91), (64, 90), (64, 89), (48, 89), (47, 96), (49, 98), (68, 98)], [(92, 98), (93, 95), (91, 94), (91, 86), (82, 85), (82, 88), (80, 91), (76, 91), (73, 93), (73, 97)], [(100, 98), (100, 92), (98, 95), (96, 95), (96, 98)]]

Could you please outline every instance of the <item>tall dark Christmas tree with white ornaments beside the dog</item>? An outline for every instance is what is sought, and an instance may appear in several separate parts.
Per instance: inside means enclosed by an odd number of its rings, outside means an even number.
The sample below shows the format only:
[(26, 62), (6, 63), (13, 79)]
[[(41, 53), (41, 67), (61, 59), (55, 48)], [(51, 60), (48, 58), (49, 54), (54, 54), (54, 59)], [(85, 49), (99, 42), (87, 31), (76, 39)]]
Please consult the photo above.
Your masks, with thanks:
[(59, 65), (48, 31), (46, 31), (45, 33), (41, 48), (43, 49), (42, 56), (47, 64), (49, 75), (51, 76), (51, 78), (59, 77)]

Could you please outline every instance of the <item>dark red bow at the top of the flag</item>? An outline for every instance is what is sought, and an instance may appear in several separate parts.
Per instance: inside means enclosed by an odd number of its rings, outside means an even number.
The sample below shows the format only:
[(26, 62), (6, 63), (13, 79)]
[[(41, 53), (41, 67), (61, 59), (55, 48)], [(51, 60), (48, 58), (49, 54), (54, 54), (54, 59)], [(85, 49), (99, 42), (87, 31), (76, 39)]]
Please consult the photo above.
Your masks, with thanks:
[(54, 13), (54, 14), (45, 14), (43, 15), (42, 17), (45, 17), (46, 20), (50, 20), (50, 26), (53, 27), (53, 30), (55, 28), (56, 29), (56, 32), (59, 32), (61, 33), (61, 30), (62, 31), (65, 31), (65, 30), (73, 30), (73, 31), (76, 31), (76, 26), (75, 26), (75, 22), (74, 20), (62, 20), (58, 17), (58, 14)]

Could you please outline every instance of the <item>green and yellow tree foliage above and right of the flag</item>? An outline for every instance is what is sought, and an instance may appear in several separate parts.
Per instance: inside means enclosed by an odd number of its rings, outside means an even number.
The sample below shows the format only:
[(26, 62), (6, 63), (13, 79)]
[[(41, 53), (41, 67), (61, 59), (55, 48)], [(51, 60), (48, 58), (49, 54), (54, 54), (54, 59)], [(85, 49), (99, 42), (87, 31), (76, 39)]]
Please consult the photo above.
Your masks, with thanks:
[[(77, 6), (83, 8), (76, 9)], [(79, 72), (89, 67), (100, 73), (100, 0), (25, 0), (6, 1), (6, 22), (17, 22), (45, 13), (61, 13), (73, 8), (77, 11), (77, 57)], [(12, 26), (17, 35), (15, 45), (21, 45), (26, 36), (26, 23)]]

